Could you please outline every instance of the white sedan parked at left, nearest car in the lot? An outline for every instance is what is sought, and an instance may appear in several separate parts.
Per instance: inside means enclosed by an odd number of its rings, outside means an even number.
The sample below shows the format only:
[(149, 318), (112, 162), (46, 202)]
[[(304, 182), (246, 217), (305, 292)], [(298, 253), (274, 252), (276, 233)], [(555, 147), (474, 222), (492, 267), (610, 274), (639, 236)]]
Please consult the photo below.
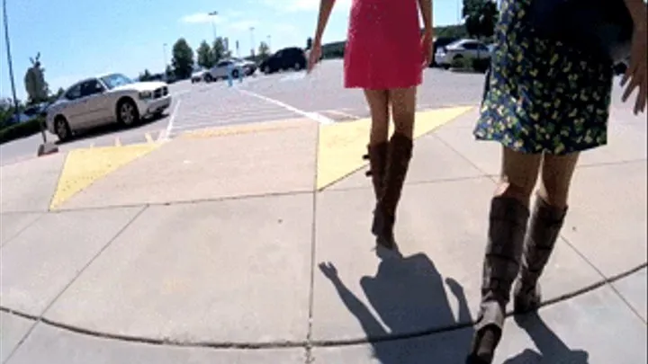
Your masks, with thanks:
[(159, 116), (171, 105), (164, 82), (134, 82), (121, 74), (88, 78), (73, 84), (49, 106), (47, 128), (65, 141), (77, 130), (112, 122), (124, 126)]

